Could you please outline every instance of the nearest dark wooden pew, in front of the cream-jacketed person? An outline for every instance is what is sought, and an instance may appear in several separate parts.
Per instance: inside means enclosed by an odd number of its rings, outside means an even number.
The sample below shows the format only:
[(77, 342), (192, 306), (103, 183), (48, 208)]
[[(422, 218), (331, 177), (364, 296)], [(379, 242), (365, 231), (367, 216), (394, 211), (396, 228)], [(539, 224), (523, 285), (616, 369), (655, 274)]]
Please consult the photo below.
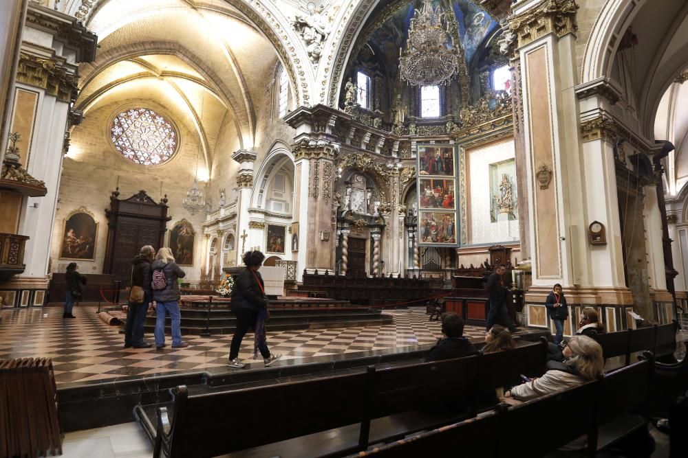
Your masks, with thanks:
[[(377, 446), (352, 457), (539, 457), (588, 435), (587, 455), (601, 450), (647, 424), (652, 357), (614, 371), (603, 380), (550, 393), (516, 407), (500, 404), (486, 415)], [(638, 415), (638, 412), (641, 415)], [(557, 415), (557, 413), (559, 413)], [(524, 435), (515, 425), (541, 426), (541, 434)]]

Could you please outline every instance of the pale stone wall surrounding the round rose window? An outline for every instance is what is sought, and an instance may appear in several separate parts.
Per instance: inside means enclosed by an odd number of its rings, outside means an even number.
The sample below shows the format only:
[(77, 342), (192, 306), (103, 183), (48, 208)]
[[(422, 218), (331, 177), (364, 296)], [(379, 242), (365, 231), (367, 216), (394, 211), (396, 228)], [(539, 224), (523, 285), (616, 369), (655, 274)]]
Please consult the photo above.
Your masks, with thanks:
[[(155, 102), (142, 102), (153, 110), (166, 113), (164, 107)], [(96, 259), (94, 261), (79, 261), (80, 271), (83, 273), (103, 273), (103, 261), (107, 240), (107, 220), (105, 209), (109, 208), (109, 197), (115, 187), (119, 186), (120, 199), (125, 199), (145, 190), (155, 201), (167, 194), (171, 221), (167, 224), (168, 231), (174, 223), (186, 218), (196, 231), (194, 244), (194, 262), (191, 267), (184, 267), (186, 278), (192, 282), (200, 278), (202, 266), (202, 230), (201, 224), (206, 218), (204, 211), (195, 215), (189, 214), (182, 207), (182, 199), (193, 183), (196, 157), (198, 151), (198, 137), (193, 130), (169, 119), (178, 128), (180, 144), (175, 155), (168, 162), (153, 167), (138, 165), (121, 157), (109, 139), (109, 122), (114, 115), (119, 102), (109, 104), (89, 111), (83, 119), (83, 124), (72, 131), (72, 141), (69, 153), (63, 163), (63, 173), (58, 193), (58, 209), (55, 215), (55, 225), (52, 234), (52, 249), (50, 253), (52, 272), (64, 271), (69, 260), (59, 260), (65, 218), (69, 214), (85, 207), (94, 214), (98, 225), (96, 242)], [(202, 157), (199, 167), (202, 167)], [(204, 190), (204, 183), (199, 183)], [(215, 201), (217, 202), (217, 200)], [(165, 244), (169, 242), (169, 232), (165, 236)], [(158, 247), (155, 247), (156, 249)]]

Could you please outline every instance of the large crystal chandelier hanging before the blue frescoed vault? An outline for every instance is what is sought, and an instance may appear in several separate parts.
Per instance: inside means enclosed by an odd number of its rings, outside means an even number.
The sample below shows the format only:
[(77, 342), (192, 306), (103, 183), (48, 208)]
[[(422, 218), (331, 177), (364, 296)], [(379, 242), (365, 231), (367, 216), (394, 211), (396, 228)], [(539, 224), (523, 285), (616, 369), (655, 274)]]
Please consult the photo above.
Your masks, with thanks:
[(399, 73), (414, 86), (447, 84), (458, 71), (457, 49), (447, 48), (444, 14), (440, 6), (433, 10), (432, 0), (422, 0), (420, 11), (413, 14), (406, 49), (399, 49)]

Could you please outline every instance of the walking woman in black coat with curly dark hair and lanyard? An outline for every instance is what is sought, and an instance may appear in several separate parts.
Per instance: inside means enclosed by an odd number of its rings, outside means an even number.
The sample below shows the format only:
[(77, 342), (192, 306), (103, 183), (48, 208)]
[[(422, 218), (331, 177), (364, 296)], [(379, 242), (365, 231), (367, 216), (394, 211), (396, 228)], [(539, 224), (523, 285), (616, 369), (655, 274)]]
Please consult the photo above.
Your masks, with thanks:
[(268, 297), (265, 294), (265, 284), (258, 269), (265, 255), (260, 251), (248, 251), (244, 254), (246, 268), (237, 275), (232, 288), (232, 312), (237, 316), (237, 327), (232, 337), (232, 345), (229, 352), (229, 367), (242, 369), (244, 363), (239, 360), (239, 347), (246, 332), (253, 328), (257, 334), (256, 342), (258, 350), (265, 366), (274, 363), (281, 355), (270, 354), (268, 343), (265, 339), (264, 323), (270, 316), (268, 314)]

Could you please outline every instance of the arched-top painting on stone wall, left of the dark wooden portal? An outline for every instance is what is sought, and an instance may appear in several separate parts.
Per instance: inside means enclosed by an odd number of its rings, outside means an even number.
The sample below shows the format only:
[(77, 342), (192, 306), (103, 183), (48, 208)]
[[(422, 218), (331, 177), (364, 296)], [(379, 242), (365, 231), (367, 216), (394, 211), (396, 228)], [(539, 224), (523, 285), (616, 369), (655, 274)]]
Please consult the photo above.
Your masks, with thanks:
[(83, 207), (73, 211), (65, 219), (60, 259), (95, 260), (97, 237), (98, 223), (92, 213)]

